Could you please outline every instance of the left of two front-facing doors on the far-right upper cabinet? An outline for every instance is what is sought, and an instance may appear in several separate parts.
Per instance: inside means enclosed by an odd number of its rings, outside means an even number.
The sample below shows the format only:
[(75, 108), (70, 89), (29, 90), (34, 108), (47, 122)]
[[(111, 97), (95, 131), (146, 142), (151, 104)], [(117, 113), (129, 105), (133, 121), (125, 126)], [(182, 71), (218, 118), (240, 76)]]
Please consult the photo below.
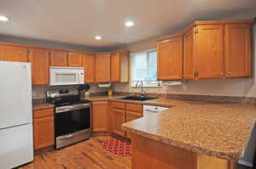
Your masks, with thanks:
[(198, 25), (196, 32), (198, 78), (223, 77), (224, 25)]

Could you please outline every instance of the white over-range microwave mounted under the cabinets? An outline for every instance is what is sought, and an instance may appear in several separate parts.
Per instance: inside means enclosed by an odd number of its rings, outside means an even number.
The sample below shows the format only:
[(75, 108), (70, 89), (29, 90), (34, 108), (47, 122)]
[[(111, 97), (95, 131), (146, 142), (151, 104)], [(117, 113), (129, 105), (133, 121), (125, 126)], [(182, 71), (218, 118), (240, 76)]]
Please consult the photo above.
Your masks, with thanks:
[(49, 67), (49, 85), (77, 85), (84, 84), (83, 67)]

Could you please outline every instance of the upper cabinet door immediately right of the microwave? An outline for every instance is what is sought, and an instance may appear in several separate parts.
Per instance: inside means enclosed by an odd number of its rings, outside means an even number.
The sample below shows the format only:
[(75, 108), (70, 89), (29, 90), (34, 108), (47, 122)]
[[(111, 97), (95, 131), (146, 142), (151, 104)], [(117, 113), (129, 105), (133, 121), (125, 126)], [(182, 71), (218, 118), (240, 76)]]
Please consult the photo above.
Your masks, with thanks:
[(83, 55), (84, 79), (85, 82), (95, 82), (95, 55)]

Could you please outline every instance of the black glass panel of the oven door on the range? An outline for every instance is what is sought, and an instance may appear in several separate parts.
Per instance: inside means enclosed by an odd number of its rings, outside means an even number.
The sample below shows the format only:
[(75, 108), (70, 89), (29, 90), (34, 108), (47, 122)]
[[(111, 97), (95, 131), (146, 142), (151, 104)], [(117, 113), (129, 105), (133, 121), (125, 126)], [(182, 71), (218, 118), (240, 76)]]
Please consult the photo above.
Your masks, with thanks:
[(90, 130), (90, 108), (55, 113), (55, 138)]

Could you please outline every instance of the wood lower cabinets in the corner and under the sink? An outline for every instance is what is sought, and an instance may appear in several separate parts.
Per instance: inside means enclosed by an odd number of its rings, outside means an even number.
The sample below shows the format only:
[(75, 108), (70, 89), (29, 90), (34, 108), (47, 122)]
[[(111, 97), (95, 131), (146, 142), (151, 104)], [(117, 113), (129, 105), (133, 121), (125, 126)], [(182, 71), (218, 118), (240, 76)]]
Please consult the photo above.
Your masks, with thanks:
[(113, 101), (92, 102), (92, 131), (113, 132), (121, 137), (131, 138), (122, 124), (143, 116), (142, 104), (125, 104)]

